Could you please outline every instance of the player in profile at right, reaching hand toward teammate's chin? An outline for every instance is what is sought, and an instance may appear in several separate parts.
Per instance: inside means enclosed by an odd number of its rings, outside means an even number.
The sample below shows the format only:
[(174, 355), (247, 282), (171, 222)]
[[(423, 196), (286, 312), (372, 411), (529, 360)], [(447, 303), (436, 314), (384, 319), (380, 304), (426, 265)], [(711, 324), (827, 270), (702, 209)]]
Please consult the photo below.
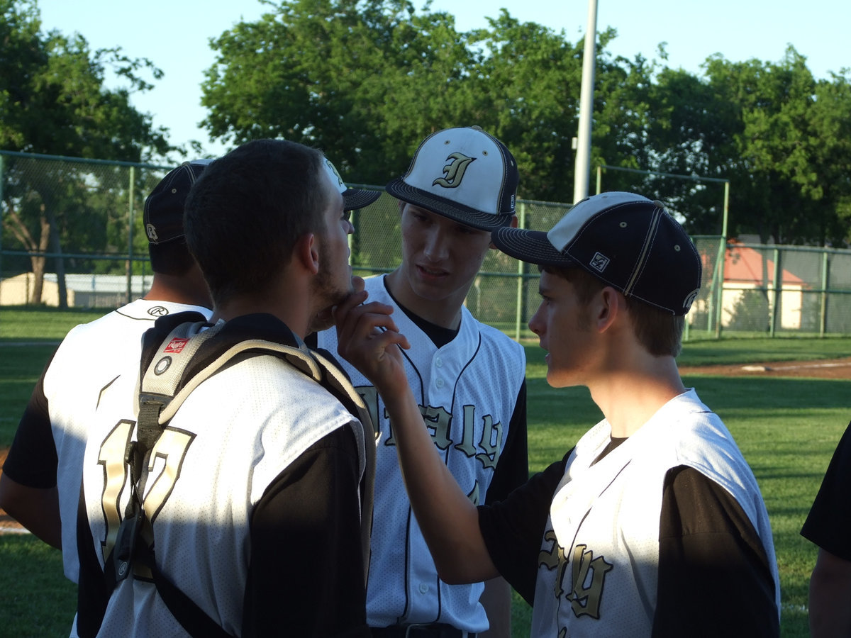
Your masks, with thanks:
[[(776, 636), (780, 584), (757, 481), (675, 356), (700, 255), (660, 202), (610, 192), (549, 232), (500, 228), (541, 269), (529, 328), (547, 382), (585, 385), (604, 419), (503, 502), (474, 507), (417, 423), (391, 308), (337, 310), (340, 354), (374, 381), (414, 513), (448, 582), (502, 574), (534, 636)], [(390, 328), (374, 332), (374, 328)]]

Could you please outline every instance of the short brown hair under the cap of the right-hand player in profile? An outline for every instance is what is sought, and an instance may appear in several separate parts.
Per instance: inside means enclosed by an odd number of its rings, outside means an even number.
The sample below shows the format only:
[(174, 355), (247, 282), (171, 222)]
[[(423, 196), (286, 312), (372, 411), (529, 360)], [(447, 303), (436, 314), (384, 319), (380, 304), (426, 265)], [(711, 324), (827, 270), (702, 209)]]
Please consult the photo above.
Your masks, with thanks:
[[(541, 266), (540, 270), (571, 282), (576, 290), (577, 298), (583, 305), (588, 304), (591, 298), (607, 285), (602, 279), (597, 279), (590, 272), (575, 266), (567, 268)], [(653, 356), (678, 356), (683, 350), (685, 316), (672, 315), (640, 299), (632, 297), (625, 297), (625, 299), (632, 329), (638, 342)]]

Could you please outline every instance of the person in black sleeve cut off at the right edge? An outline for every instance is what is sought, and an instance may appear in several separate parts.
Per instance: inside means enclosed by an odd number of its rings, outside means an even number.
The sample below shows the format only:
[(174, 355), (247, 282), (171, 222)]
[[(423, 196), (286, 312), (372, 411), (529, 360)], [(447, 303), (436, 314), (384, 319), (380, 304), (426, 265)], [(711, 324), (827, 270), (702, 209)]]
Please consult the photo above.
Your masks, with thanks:
[(851, 424), (827, 467), (801, 535), (819, 547), (809, 579), (809, 630), (813, 638), (851, 635)]

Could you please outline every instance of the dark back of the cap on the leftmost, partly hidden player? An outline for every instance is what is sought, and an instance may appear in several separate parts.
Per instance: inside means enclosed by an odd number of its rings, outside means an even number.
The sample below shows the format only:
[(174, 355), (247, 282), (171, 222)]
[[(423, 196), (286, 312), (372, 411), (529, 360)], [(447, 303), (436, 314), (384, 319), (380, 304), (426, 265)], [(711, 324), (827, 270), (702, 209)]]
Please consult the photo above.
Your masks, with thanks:
[(213, 160), (183, 162), (169, 171), (145, 200), (145, 234), (148, 242), (159, 244), (183, 236), (183, 206), (189, 189)]

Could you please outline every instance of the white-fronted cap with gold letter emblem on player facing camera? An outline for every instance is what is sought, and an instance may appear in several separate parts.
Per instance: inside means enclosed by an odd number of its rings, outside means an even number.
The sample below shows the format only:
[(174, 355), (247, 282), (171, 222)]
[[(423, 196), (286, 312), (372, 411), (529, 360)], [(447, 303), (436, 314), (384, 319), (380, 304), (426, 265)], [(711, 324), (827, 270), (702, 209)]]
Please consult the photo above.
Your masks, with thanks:
[(514, 215), (517, 162), (505, 145), (478, 127), (446, 128), (429, 135), (408, 172), (386, 191), (473, 228), (493, 231)]

